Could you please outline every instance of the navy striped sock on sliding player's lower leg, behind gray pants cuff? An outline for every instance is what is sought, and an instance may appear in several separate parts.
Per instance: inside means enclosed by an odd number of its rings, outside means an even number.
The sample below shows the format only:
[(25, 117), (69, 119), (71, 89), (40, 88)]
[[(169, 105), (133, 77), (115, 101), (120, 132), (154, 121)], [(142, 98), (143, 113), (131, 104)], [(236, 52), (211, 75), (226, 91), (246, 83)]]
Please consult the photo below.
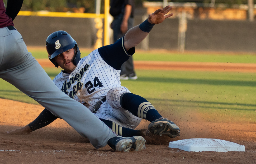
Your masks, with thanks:
[(120, 125), (117, 125), (115, 122), (100, 119), (104, 124), (106, 124), (110, 129), (113, 130), (118, 136), (122, 137), (132, 137), (132, 136), (140, 136), (139, 130), (133, 130), (126, 127), (122, 127)]

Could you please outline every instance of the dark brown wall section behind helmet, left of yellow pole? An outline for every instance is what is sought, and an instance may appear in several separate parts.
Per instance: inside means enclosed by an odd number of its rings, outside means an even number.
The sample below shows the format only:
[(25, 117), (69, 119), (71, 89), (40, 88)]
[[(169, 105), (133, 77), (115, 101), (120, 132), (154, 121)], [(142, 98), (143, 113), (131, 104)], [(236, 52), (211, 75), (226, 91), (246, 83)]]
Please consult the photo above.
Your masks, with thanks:
[(51, 33), (64, 30), (76, 40), (79, 47), (91, 48), (96, 41), (93, 20), (93, 18), (17, 16), (14, 25), (26, 45), (43, 46)]

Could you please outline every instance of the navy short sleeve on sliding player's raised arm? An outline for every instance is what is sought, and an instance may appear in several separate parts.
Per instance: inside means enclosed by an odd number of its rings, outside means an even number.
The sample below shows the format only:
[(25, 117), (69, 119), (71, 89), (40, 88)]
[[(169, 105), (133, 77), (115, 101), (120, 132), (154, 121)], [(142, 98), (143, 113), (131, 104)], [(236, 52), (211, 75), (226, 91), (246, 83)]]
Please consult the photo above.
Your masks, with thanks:
[(122, 64), (135, 53), (132, 47), (128, 51), (124, 48), (124, 37), (118, 39), (114, 44), (106, 45), (98, 49), (102, 59), (111, 67), (120, 70)]

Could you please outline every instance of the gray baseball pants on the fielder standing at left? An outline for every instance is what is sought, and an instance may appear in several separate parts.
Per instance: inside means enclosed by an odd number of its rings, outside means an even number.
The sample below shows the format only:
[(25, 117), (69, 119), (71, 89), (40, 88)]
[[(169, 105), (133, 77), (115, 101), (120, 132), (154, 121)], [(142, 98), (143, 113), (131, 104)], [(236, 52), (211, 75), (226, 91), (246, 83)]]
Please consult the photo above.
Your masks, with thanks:
[(64, 119), (95, 148), (117, 136), (84, 105), (61, 92), (27, 51), (21, 34), (7, 27), (0, 28), (0, 78)]

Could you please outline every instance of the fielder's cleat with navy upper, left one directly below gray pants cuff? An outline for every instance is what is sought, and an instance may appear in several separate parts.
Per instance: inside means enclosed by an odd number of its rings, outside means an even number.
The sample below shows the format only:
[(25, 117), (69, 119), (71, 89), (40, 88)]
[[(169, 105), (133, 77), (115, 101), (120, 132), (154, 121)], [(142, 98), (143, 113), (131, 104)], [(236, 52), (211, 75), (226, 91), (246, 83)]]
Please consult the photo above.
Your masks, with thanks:
[(117, 151), (129, 152), (132, 147), (132, 140), (129, 138), (116, 136), (108, 140), (108, 145)]

